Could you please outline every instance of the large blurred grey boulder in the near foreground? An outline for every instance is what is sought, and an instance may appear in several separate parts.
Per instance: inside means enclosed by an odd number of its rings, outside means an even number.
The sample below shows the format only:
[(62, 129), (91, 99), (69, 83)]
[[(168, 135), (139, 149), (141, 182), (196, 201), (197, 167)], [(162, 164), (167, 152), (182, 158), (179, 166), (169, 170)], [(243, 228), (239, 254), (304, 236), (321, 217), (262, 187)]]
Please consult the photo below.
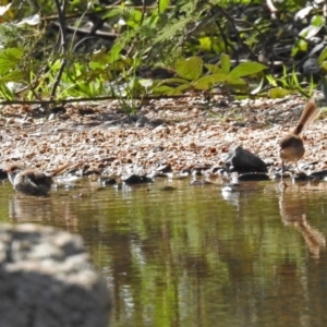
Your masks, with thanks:
[(108, 327), (110, 296), (83, 241), (51, 227), (0, 226), (0, 326)]

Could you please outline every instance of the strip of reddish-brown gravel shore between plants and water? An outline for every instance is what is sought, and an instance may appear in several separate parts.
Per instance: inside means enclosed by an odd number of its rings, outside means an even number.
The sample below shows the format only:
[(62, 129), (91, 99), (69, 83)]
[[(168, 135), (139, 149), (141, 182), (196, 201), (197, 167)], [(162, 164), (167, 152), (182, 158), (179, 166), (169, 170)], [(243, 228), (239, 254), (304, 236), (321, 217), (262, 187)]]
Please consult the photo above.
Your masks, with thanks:
[[(126, 116), (118, 101), (66, 105), (45, 114), (39, 108), (5, 106), (0, 118), (1, 166), (23, 164), (51, 172), (82, 162), (83, 174), (148, 174), (216, 171), (227, 154), (242, 146), (278, 169), (278, 141), (296, 123), (305, 100), (228, 101), (206, 107), (201, 98), (153, 100)], [(304, 132), (301, 161), (327, 168), (324, 112)]]

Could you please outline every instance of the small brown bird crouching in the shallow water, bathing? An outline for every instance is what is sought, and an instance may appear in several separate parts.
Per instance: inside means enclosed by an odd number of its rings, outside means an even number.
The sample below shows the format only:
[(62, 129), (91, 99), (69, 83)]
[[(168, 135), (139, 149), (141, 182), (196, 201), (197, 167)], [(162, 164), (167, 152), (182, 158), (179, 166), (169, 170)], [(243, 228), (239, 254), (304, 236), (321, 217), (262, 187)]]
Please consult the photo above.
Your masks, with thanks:
[(64, 165), (51, 174), (46, 174), (35, 168), (25, 168), (21, 165), (13, 165), (5, 171), (13, 187), (24, 195), (46, 196), (53, 184), (53, 177), (71, 167), (72, 164)]

